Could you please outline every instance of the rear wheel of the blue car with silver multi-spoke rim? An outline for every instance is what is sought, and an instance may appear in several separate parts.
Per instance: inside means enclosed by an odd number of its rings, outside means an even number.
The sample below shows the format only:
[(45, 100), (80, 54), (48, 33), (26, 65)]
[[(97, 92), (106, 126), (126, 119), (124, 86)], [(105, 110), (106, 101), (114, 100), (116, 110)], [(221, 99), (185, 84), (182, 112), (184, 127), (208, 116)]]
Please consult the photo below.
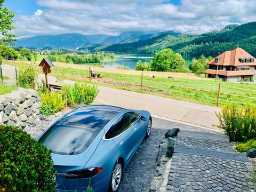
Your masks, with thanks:
[(111, 174), (109, 190), (108, 190), (109, 192), (118, 191), (121, 185), (122, 175), (123, 175), (123, 164), (120, 160), (118, 160)]

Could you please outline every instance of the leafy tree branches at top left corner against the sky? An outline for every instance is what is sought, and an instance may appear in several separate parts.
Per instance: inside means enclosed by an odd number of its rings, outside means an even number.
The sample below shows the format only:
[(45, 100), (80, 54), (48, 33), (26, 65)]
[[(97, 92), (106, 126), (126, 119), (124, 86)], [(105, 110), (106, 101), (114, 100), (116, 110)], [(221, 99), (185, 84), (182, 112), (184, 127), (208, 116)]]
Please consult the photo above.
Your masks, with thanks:
[(0, 0), (0, 44), (4, 45), (13, 45), (13, 41), (15, 41), (15, 37), (17, 35), (10, 34), (12, 29), (15, 27), (12, 26), (14, 20), (12, 19), (15, 13), (11, 12), (4, 6), (5, 0)]

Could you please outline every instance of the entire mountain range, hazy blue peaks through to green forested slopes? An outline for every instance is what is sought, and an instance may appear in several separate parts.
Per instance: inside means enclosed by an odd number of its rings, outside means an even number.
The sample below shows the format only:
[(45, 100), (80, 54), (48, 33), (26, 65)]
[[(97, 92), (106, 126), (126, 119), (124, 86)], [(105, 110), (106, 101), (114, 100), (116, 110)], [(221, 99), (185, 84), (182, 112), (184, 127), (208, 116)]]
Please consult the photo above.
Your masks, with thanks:
[(101, 50), (125, 54), (154, 54), (170, 48), (183, 57), (206, 57), (233, 50), (239, 45), (256, 55), (256, 22), (229, 25), (219, 31), (201, 35), (174, 31), (126, 31), (118, 36), (62, 34), (17, 39), (15, 46), (29, 49)]

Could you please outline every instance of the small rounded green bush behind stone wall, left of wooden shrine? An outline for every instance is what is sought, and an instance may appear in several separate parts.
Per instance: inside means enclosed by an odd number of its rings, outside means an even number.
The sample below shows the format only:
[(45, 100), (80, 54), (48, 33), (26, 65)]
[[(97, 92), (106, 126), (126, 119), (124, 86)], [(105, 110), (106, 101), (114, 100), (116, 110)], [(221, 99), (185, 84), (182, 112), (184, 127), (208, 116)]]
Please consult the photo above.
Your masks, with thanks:
[(33, 67), (21, 68), (18, 74), (18, 85), (26, 89), (35, 88), (37, 73)]

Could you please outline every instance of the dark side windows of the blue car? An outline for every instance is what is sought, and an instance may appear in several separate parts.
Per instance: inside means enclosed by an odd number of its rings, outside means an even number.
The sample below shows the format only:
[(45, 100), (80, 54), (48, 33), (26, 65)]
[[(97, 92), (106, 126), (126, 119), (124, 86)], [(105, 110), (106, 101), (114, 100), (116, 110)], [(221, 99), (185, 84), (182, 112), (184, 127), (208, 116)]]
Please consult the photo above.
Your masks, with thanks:
[(133, 112), (128, 112), (116, 119), (115, 123), (110, 127), (108, 132), (106, 133), (106, 139), (111, 139), (116, 137), (117, 135), (123, 133), (129, 127), (139, 119), (139, 115)]

